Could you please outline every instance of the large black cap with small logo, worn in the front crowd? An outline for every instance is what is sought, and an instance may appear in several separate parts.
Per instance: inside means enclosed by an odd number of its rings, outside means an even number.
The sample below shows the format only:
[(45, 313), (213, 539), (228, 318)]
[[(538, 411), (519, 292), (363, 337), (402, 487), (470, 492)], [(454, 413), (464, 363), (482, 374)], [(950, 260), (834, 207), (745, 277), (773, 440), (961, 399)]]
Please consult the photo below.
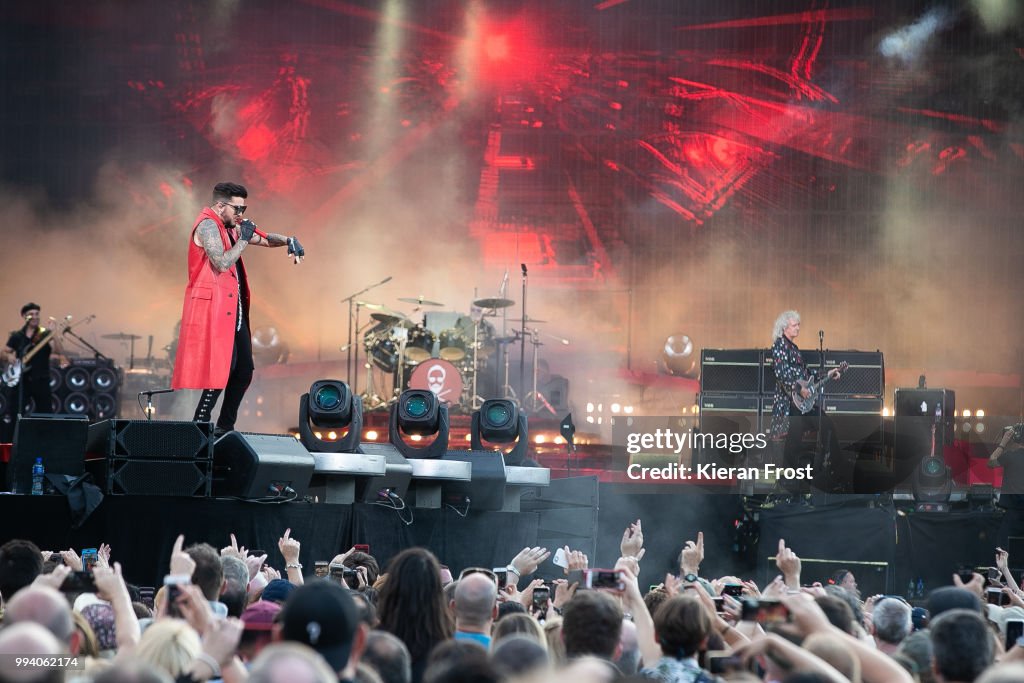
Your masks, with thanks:
[(315, 581), (292, 591), (282, 610), (281, 635), (309, 645), (335, 672), (348, 665), (359, 623), (348, 591), (328, 581)]

